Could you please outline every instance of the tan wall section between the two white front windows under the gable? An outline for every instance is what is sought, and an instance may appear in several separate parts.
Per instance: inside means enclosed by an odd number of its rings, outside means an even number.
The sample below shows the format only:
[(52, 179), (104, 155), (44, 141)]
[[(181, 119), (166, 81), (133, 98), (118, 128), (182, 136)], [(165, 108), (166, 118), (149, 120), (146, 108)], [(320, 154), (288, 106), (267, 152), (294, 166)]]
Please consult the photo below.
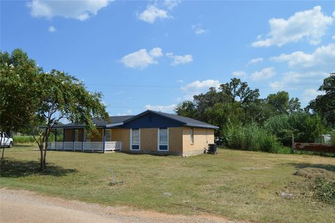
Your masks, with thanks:
[(157, 134), (156, 128), (140, 129), (140, 150), (156, 152)]

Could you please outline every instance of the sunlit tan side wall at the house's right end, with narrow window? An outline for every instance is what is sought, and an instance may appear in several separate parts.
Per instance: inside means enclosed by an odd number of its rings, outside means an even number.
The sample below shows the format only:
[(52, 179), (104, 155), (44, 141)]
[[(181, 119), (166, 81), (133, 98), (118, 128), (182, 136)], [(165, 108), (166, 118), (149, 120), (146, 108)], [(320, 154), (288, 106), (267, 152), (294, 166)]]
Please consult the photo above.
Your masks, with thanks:
[(194, 143), (191, 143), (191, 128), (183, 129), (183, 154), (191, 151), (203, 152), (208, 144), (214, 143), (214, 129), (193, 128)]

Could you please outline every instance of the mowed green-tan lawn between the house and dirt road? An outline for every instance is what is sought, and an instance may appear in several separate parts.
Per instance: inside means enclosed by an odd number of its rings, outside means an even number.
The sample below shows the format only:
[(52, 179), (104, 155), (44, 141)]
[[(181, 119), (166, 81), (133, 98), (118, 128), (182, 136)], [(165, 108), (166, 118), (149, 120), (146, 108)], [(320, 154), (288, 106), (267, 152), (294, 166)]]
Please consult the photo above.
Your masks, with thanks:
[[(301, 168), (335, 174), (335, 159), (297, 154), (218, 150), (217, 155), (158, 157), (124, 153), (48, 152), (36, 173), (32, 146), (5, 151), (0, 186), (29, 189), (106, 206), (132, 206), (185, 215), (212, 213), (254, 222), (334, 222), (335, 206), (298, 196)], [(117, 181), (110, 186), (110, 168)], [(292, 187), (295, 185), (295, 187)], [(281, 191), (296, 194), (283, 199)], [(171, 196), (164, 194), (168, 192)]]

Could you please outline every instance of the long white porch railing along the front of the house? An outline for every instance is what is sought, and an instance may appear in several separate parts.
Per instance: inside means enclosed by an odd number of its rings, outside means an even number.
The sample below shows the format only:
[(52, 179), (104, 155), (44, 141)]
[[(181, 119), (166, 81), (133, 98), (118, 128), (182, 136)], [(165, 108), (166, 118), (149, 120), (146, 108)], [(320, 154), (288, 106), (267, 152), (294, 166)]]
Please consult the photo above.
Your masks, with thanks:
[[(105, 151), (121, 150), (122, 142), (105, 142)], [(103, 142), (51, 142), (47, 143), (47, 150), (91, 151), (102, 152)]]

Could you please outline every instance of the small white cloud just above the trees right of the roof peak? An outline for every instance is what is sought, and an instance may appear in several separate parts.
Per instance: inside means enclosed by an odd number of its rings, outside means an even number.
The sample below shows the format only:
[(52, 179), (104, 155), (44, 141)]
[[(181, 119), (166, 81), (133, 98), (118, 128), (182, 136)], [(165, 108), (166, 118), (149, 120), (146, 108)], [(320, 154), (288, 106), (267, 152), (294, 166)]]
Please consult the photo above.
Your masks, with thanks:
[(209, 87), (220, 87), (220, 82), (218, 80), (195, 80), (184, 87), (181, 87), (183, 92), (185, 93), (184, 99), (192, 100), (193, 95), (201, 94), (207, 92)]

